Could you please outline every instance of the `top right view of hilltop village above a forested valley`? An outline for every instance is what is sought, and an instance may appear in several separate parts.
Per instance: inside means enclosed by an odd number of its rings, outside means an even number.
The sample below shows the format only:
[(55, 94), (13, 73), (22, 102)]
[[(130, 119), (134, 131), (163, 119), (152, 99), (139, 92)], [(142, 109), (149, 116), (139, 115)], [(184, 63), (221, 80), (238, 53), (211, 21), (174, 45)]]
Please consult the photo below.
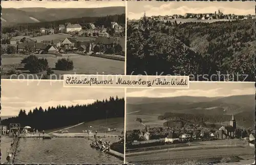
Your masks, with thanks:
[(127, 2), (127, 75), (254, 81), (255, 2)]

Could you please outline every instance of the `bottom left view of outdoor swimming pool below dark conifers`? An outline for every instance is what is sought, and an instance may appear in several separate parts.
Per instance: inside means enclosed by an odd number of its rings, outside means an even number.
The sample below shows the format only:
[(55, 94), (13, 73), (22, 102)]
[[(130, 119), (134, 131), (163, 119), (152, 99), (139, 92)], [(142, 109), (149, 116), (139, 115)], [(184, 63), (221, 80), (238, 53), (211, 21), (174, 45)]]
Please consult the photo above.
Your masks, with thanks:
[(123, 88), (65, 88), (59, 80), (1, 84), (1, 163), (123, 163)]

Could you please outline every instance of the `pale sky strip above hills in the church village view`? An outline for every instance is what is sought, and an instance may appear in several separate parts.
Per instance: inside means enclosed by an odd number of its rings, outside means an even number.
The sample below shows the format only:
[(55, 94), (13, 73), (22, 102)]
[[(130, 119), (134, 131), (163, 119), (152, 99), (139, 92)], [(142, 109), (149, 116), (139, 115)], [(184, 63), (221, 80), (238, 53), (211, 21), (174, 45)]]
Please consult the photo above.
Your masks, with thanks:
[(189, 83), (188, 89), (127, 89), (126, 97), (227, 97), (232, 95), (255, 95), (254, 83), (221, 83), (196, 82)]

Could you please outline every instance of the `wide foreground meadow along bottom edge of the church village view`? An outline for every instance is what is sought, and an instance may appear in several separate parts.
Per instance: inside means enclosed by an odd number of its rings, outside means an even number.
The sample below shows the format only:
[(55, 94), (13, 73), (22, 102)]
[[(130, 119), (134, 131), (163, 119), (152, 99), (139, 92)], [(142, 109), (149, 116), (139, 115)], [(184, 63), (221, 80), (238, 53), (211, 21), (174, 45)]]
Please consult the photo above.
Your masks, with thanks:
[[(230, 146), (231, 147), (231, 146)], [(143, 164), (183, 164), (188, 160), (196, 160), (191, 164), (207, 164), (212, 163), (212, 158), (215, 158), (214, 162), (219, 163), (223, 158), (247, 156), (251, 157), (254, 154), (254, 149), (251, 147), (239, 147), (232, 146), (220, 147), (220, 148), (207, 148), (202, 145), (202, 148), (195, 149), (180, 149), (180, 150), (163, 150), (152, 151), (150, 153), (138, 154), (138, 155), (126, 155), (126, 160), (132, 163)], [(225, 162), (224, 162), (225, 163)]]

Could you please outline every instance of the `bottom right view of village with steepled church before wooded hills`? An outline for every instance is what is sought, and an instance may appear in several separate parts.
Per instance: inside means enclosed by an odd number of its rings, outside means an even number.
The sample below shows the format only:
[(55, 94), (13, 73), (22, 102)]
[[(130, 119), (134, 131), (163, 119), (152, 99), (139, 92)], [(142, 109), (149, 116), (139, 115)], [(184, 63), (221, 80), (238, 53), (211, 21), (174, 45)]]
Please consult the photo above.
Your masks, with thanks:
[(125, 162), (252, 164), (254, 83), (127, 89)]

